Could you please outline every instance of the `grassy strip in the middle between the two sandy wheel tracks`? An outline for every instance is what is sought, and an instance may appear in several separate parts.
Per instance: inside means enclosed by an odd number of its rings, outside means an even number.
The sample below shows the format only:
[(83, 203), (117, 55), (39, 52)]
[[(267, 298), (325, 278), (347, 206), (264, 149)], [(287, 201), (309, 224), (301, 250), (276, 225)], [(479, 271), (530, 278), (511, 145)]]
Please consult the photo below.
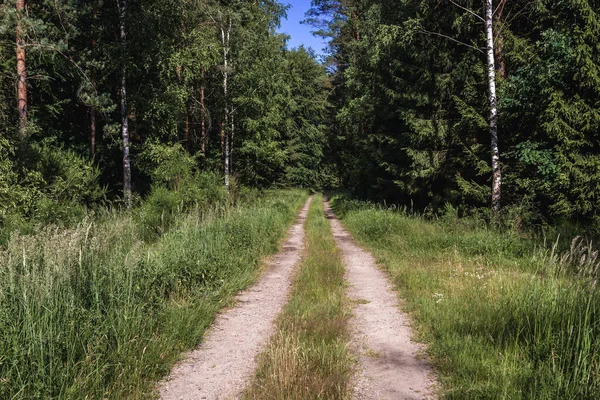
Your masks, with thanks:
[(321, 196), (306, 222), (306, 256), (292, 297), (262, 354), (249, 399), (344, 399), (352, 360), (344, 267)]

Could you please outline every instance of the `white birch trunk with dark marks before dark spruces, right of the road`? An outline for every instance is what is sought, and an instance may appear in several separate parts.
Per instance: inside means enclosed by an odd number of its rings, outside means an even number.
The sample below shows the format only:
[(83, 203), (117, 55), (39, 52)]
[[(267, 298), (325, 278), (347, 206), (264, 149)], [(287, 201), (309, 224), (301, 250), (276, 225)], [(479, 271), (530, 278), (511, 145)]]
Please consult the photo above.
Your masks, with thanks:
[(494, 28), (492, 0), (485, 0), (485, 30), (487, 39), (487, 67), (490, 101), (490, 136), (492, 148), (492, 211), (500, 211), (502, 172), (498, 150), (498, 103), (496, 100), (496, 68), (494, 63)]

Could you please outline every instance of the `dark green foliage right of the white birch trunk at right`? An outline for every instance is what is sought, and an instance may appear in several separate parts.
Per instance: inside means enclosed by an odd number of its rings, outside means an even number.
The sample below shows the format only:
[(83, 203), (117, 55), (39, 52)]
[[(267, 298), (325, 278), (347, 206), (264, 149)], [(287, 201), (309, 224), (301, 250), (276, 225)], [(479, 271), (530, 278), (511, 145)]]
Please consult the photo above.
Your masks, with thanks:
[[(598, 36), (592, 2), (544, 2), (534, 27), (514, 24), (507, 57), (514, 73), (506, 81), (507, 129), (517, 135), (510, 178), (521, 196), (557, 217), (593, 219), (600, 182), (597, 107)], [(577, 15), (565, 22), (567, 15)], [(535, 56), (522, 59), (520, 54)], [(515, 54), (519, 53), (519, 54)], [(514, 128), (513, 128), (514, 127)], [(516, 139), (516, 140), (515, 140)]]

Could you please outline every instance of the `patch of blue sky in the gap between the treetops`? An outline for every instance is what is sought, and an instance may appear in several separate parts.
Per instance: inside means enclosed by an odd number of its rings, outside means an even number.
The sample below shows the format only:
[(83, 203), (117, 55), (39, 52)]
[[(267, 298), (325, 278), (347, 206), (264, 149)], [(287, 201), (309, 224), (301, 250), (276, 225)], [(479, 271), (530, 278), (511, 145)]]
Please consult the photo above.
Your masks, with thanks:
[(312, 26), (300, 24), (304, 19), (304, 13), (310, 8), (310, 0), (282, 0), (283, 4), (289, 4), (287, 20), (281, 20), (279, 32), (291, 36), (288, 47), (290, 49), (298, 47), (301, 44), (304, 47), (312, 47), (317, 54), (323, 54), (325, 42), (319, 37), (314, 37), (310, 31), (314, 30)]

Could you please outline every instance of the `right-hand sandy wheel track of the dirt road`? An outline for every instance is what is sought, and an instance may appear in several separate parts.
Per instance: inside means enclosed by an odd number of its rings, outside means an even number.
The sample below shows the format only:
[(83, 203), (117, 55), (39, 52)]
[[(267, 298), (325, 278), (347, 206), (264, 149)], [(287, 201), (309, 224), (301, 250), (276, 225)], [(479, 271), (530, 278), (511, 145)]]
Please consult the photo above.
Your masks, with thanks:
[(355, 303), (351, 347), (359, 371), (353, 398), (434, 399), (432, 370), (422, 357), (422, 345), (410, 339), (409, 320), (398, 307), (388, 277), (377, 268), (373, 256), (356, 245), (328, 203), (325, 212), (343, 252), (349, 296)]

